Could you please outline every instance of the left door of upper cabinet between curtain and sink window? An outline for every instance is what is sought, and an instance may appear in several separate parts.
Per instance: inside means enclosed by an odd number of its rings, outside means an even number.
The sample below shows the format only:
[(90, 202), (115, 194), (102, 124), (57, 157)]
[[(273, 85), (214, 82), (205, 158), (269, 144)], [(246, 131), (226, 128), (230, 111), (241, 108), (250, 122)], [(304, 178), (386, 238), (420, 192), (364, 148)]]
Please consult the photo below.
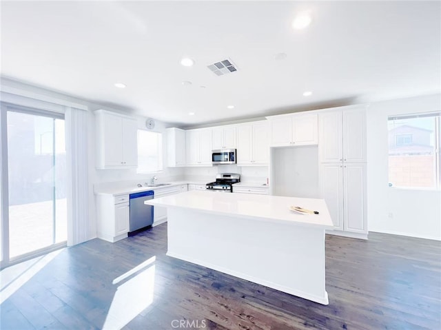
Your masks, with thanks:
[(123, 127), (122, 118), (105, 114), (103, 120), (104, 166), (123, 166)]

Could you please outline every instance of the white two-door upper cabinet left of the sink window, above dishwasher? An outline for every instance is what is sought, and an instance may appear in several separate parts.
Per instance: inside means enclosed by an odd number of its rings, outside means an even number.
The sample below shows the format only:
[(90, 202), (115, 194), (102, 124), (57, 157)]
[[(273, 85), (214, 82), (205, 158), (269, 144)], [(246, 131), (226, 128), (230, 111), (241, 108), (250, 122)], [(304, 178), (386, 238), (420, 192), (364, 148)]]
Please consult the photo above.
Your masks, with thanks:
[(96, 168), (118, 169), (138, 165), (136, 120), (97, 110), (96, 120)]

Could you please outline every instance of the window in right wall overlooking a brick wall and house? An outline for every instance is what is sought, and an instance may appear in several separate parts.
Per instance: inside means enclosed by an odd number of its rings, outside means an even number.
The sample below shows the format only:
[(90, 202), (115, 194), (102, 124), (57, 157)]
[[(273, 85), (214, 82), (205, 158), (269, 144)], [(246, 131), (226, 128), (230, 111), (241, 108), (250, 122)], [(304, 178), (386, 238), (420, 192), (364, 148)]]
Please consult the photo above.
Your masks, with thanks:
[(440, 188), (440, 113), (389, 117), (389, 186)]

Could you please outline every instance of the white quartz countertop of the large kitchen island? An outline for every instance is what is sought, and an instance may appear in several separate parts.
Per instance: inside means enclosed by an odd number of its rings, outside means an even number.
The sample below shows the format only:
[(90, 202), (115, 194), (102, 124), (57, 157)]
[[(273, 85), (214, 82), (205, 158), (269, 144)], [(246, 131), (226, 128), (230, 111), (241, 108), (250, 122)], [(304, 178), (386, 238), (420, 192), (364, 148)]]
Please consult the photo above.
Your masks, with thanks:
[[(276, 223), (292, 223), (314, 227), (331, 228), (333, 223), (325, 200), (258, 194), (225, 194), (194, 190), (171, 196), (146, 200), (147, 205), (181, 207), (205, 213), (225, 214), (255, 218)], [(289, 207), (300, 206), (318, 211), (319, 214), (298, 214)]]

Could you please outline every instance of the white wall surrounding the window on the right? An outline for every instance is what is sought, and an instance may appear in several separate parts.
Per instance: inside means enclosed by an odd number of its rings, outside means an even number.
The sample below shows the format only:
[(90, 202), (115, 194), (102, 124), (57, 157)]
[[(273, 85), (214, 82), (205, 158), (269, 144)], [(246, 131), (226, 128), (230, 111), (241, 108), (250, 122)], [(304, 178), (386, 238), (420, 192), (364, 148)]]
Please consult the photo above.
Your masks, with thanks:
[(388, 186), (391, 115), (434, 112), (441, 95), (373, 103), (367, 110), (367, 200), (369, 231), (441, 240), (441, 192)]

